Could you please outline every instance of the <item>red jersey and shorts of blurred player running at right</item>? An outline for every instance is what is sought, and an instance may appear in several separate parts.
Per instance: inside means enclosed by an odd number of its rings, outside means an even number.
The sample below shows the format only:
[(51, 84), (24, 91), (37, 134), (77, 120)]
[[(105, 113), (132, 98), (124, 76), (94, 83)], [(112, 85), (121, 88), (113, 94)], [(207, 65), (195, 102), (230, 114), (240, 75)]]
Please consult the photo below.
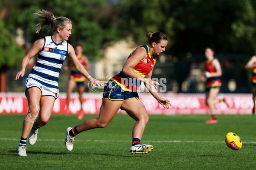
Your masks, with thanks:
[[(209, 59), (206, 62), (205, 65), (205, 71), (208, 71), (209, 73), (215, 73), (216, 72), (216, 68), (215, 66), (212, 64), (212, 61), (215, 60), (214, 57), (212, 57), (212, 59)], [(219, 77), (210, 77), (207, 78), (206, 81), (206, 88), (211, 88), (211, 87), (216, 87), (216, 86), (221, 86), (221, 80)]]

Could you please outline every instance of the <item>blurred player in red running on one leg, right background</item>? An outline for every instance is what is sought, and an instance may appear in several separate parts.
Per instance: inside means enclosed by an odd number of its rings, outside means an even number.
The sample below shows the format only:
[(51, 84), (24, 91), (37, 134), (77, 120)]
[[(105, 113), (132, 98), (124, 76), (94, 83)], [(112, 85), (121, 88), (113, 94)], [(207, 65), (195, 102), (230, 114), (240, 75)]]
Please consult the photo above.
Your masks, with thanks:
[(204, 76), (201, 77), (202, 81), (206, 80), (206, 105), (209, 106), (211, 119), (205, 121), (205, 123), (218, 123), (218, 119), (215, 115), (214, 105), (218, 102), (225, 102), (229, 107), (226, 98), (215, 99), (221, 88), (220, 77), (222, 75), (221, 65), (218, 59), (214, 58), (214, 51), (212, 48), (205, 49), (205, 57), (207, 62), (205, 65)]

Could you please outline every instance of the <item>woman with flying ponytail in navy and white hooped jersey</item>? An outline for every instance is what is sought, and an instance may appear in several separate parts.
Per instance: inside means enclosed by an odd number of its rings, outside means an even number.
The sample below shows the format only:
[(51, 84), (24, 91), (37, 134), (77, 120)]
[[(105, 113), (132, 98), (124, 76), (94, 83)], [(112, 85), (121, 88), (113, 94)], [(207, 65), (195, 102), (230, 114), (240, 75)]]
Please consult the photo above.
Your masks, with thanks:
[(38, 128), (46, 125), (49, 121), (55, 99), (58, 98), (58, 77), (66, 56), (70, 57), (70, 61), (75, 68), (94, 87), (96, 85), (99, 85), (99, 87), (103, 85), (103, 82), (90, 76), (84, 66), (78, 61), (72, 45), (67, 43), (71, 35), (71, 20), (66, 17), (55, 18), (52, 13), (45, 10), (38, 11), (34, 15), (41, 19), (40, 23), (36, 25), (36, 33), (43, 26), (50, 25), (53, 35), (33, 43), (28, 53), (23, 57), (21, 69), (14, 79), (17, 80), (19, 77), (24, 76), (29, 60), (38, 54), (38, 61), (26, 81), (26, 97), (28, 99), (29, 111), (23, 120), (20, 144), (16, 149), (18, 156), (26, 156), (27, 136), (29, 135), (29, 144), (35, 144)]

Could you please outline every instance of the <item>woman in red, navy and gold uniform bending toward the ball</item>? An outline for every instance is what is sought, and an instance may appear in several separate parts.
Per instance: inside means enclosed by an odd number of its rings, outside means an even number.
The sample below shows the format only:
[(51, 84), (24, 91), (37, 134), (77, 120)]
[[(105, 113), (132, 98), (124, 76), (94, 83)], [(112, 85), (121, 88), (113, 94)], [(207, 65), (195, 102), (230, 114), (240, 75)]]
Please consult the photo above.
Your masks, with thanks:
[(159, 83), (151, 81), (155, 55), (165, 51), (168, 41), (166, 35), (161, 32), (146, 32), (146, 36), (148, 45), (140, 46), (132, 51), (122, 71), (105, 85), (99, 117), (88, 119), (74, 128), (67, 128), (65, 145), (68, 150), (73, 149), (74, 137), (78, 133), (107, 126), (119, 108), (136, 120), (132, 131), (131, 153), (148, 153), (153, 149), (152, 145), (140, 144), (145, 125), (148, 123), (148, 113), (139, 99), (137, 90), (140, 83), (144, 82), (150, 93), (164, 108), (171, 107), (170, 101), (161, 98), (157, 93), (155, 84), (159, 85)]

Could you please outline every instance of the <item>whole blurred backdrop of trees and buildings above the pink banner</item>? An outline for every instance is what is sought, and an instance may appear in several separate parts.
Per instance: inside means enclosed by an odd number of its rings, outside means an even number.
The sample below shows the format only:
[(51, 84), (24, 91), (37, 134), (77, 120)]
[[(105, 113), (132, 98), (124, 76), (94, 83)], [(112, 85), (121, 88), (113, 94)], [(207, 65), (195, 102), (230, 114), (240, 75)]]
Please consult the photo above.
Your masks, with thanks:
[[(68, 42), (73, 46), (82, 43), (94, 77), (118, 73), (128, 54), (146, 43), (145, 31), (162, 31), (169, 44), (166, 52), (157, 57), (152, 77), (167, 79), (166, 94), (204, 94), (200, 77), (207, 46), (215, 49), (215, 57), (221, 62), (220, 92), (250, 94), (252, 73), (244, 65), (256, 47), (255, 8), (253, 0), (2, 0), (0, 91), (2, 95), (24, 94), (26, 75), (34, 61), (27, 66), (23, 79), (13, 79), (31, 44), (49, 34), (46, 30), (35, 34), (38, 20), (32, 15), (38, 9), (46, 9), (55, 17), (72, 20)], [(66, 92), (68, 74), (61, 71), (61, 94)], [(76, 93), (73, 96), (74, 101)], [(246, 97), (245, 102), (249, 102), (250, 96)]]

